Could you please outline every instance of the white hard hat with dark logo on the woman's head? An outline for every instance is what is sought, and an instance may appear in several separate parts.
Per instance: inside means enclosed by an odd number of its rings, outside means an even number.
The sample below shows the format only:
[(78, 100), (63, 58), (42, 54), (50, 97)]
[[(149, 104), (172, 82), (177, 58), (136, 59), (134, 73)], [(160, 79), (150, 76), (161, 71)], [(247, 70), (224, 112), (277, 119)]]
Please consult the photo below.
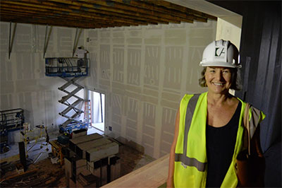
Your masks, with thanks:
[(216, 40), (204, 49), (200, 66), (241, 68), (237, 47), (229, 40)]

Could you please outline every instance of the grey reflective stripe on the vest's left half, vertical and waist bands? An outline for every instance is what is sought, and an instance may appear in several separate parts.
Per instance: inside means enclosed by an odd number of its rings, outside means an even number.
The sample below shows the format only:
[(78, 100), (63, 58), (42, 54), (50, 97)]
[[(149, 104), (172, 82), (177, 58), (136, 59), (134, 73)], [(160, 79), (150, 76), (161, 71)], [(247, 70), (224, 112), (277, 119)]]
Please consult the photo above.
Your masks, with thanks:
[(181, 162), (181, 164), (185, 166), (194, 166), (197, 170), (204, 172), (204, 167), (206, 163), (201, 163), (195, 158), (188, 158), (186, 156), (187, 153), (187, 140), (188, 140), (188, 132), (190, 129), (192, 117), (194, 114), (195, 107), (197, 105), (197, 100), (200, 94), (195, 94), (190, 99), (187, 105), (186, 117), (185, 117), (185, 136), (184, 136), (184, 143), (183, 143), (183, 153), (175, 153), (175, 161)]

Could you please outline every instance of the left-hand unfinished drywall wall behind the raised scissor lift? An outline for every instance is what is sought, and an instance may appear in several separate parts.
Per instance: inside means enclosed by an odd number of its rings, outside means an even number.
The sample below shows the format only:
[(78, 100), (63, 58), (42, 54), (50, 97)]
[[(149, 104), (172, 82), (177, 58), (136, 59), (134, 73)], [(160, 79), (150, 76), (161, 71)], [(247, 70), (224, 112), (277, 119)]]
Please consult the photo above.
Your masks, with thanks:
[[(66, 81), (45, 76), (45, 27), (18, 24), (8, 59), (9, 25), (0, 23), (0, 110), (23, 108), (25, 122), (32, 128), (44, 123), (49, 131), (58, 131), (58, 125), (65, 121), (58, 113), (66, 107), (58, 100), (66, 94), (57, 88)], [(74, 37), (75, 29), (53, 28), (45, 57), (71, 57)], [(10, 141), (19, 141), (18, 134)]]

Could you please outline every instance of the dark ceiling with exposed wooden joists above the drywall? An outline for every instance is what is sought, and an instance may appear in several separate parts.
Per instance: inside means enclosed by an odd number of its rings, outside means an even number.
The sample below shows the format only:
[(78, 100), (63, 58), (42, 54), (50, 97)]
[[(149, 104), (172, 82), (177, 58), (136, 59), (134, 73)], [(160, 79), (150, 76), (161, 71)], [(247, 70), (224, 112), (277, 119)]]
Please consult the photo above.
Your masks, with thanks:
[(158, 23), (207, 22), (216, 17), (158, 0), (0, 1), (0, 20), (71, 28), (111, 28)]

